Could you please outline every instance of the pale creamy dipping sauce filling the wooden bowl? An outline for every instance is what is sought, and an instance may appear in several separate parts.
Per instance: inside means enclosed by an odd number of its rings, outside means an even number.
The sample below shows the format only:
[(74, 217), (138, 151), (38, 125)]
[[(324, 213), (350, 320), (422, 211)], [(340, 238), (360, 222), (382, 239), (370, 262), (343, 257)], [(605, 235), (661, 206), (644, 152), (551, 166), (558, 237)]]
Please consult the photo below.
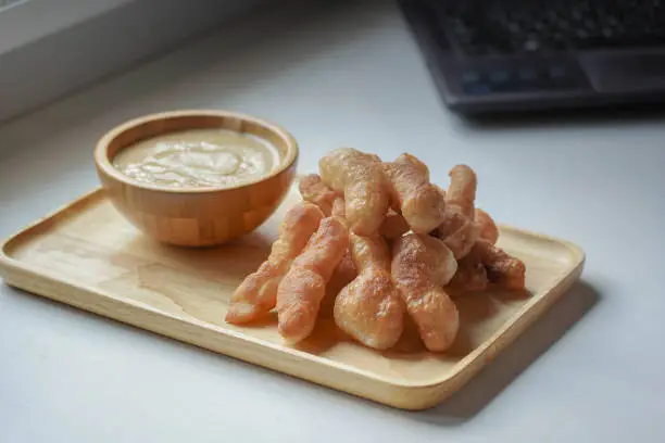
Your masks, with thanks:
[(269, 175), (279, 152), (267, 140), (228, 129), (165, 134), (124, 148), (113, 165), (137, 181), (170, 188), (235, 187)]

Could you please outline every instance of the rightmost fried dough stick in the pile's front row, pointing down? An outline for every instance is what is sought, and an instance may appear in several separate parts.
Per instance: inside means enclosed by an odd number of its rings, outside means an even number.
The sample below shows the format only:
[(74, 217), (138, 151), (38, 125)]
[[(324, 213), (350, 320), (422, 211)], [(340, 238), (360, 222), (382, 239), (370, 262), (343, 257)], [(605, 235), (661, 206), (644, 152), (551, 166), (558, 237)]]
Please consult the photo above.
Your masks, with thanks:
[(425, 346), (432, 352), (442, 352), (455, 339), (460, 318), (455, 304), (431, 275), (437, 251), (426, 246), (424, 237), (407, 233), (394, 241), (392, 279)]

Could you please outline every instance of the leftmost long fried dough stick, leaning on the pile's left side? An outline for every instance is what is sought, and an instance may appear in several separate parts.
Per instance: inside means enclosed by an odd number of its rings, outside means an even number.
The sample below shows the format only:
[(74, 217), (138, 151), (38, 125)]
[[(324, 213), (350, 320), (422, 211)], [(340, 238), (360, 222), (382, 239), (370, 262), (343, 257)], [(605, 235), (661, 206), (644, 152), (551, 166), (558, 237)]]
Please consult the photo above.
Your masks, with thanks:
[(279, 226), (279, 238), (273, 243), (268, 258), (234, 292), (226, 321), (236, 325), (252, 321), (275, 307), (281, 278), (323, 217), (316, 205), (305, 202), (296, 204), (286, 213)]

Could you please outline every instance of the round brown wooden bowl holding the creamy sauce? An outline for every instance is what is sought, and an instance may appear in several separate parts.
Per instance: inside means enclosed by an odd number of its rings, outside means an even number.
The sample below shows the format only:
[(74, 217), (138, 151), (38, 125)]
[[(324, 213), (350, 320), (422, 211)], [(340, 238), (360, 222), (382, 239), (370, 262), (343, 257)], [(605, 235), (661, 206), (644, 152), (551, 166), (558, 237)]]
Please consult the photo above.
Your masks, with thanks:
[[(138, 141), (186, 129), (224, 128), (273, 143), (280, 163), (255, 181), (234, 188), (166, 188), (134, 180), (114, 156)], [(225, 111), (176, 111), (140, 117), (109, 131), (95, 150), (99, 178), (115, 207), (148, 236), (170, 244), (208, 246), (248, 233), (286, 197), (296, 176), (298, 143), (285, 129)]]

